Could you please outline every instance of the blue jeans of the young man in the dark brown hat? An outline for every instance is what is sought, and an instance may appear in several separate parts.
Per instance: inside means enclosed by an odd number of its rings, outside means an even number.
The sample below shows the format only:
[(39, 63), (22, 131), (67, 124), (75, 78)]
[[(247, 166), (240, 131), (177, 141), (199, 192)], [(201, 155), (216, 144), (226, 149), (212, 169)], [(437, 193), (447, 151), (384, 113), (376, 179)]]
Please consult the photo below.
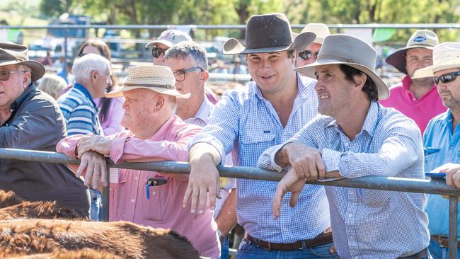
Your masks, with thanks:
[(236, 252), (236, 259), (301, 259), (301, 258), (338, 258), (337, 253), (329, 253), (329, 248), (333, 243), (326, 243), (325, 245), (315, 246), (312, 248), (305, 248), (293, 251), (267, 251), (255, 243), (243, 238), (238, 251)]

